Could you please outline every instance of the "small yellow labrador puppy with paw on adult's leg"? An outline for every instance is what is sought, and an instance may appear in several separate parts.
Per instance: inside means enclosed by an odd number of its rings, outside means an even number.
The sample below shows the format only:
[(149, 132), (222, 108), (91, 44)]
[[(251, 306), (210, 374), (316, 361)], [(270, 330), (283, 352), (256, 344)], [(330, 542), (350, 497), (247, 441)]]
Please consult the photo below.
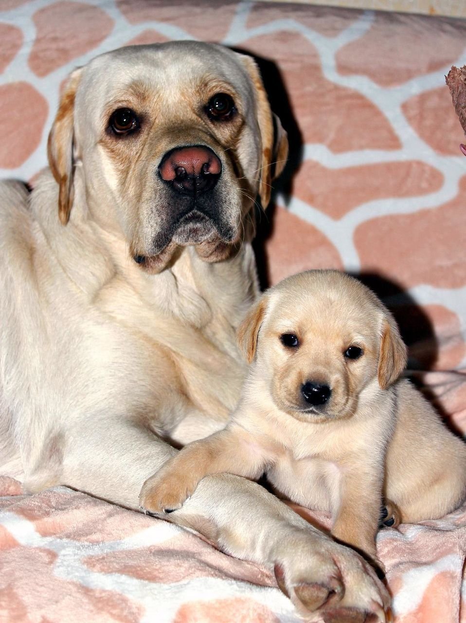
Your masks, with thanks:
[(399, 379), (406, 347), (358, 280), (331, 270), (283, 280), (252, 307), (239, 343), (254, 363), (231, 421), (145, 483), (151, 508), (179, 508), (209, 473), (265, 471), (286, 497), (332, 513), (332, 534), (375, 558), (383, 496), (407, 522), (463, 502), (466, 445)]

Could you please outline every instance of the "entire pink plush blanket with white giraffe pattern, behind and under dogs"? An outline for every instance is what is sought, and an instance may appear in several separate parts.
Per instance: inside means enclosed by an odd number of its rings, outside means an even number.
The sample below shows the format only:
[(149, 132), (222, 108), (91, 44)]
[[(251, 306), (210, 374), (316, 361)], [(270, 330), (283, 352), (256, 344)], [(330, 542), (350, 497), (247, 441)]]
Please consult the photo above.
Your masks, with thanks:
[[(263, 283), (363, 275), (412, 377), (466, 429), (466, 159), (444, 74), (466, 21), (260, 2), (0, 1), (0, 176), (45, 166), (60, 86), (100, 52), (168, 39), (259, 55), (290, 164), (257, 241)], [(0, 479), (0, 621), (298, 621), (267, 571), (163, 521)], [(325, 521), (325, 518), (320, 518)], [(327, 520), (328, 521), (328, 520)], [(466, 510), (379, 533), (399, 623), (466, 621)]]

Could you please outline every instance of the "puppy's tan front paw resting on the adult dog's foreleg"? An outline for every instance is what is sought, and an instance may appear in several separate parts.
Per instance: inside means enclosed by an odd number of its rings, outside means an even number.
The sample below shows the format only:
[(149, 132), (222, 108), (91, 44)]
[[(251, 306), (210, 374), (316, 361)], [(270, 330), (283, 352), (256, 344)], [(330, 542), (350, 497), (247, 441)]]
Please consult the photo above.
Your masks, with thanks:
[(196, 488), (189, 475), (176, 468), (163, 467), (141, 488), (140, 509), (151, 515), (173, 513), (183, 506)]

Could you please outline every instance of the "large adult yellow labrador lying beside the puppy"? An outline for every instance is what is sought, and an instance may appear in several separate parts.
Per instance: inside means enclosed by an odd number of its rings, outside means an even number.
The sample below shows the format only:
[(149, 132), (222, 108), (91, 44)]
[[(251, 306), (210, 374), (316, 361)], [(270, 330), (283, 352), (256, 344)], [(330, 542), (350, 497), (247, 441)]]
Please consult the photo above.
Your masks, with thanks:
[[(30, 198), (0, 189), (2, 473), (138, 509), (174, 446), (225, 426), (254, 200), (287, 153), (273, 135), (254, 62), (217, 45), (126, 47), (71, 75), (50, 169)], [(167, 518), (274, 568), (307, 614), (386, 618), (363, 559), (254, 482), (205, 478)]]

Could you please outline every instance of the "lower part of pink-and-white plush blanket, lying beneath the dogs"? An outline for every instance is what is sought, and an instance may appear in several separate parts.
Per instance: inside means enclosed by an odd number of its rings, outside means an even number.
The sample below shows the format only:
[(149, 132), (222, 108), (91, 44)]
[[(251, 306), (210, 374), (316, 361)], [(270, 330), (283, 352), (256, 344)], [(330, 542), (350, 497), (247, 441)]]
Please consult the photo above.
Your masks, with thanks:
[[(23, 621), (26, 614), (28, 621), (51, 623), (79, 616), (140, 621), (147, 611), (173, 612), (173, 621), (280, 621), (274, 606), (282, 596), (265, 569), (83, 493), (20, 491), (19, 483), (0, 477), (0, 612), (7, 621)], [(293, 507), (314, 525), (330, 527), (324, 513)], [(396, 622), (460, 621), (466, 505), (437, 521), (385, 528), (378, 555)], [(201, 602), (190, 584), (204, 587)], [(232, 598), (235, 586), (240, 594)], [(440, 611), (442, 618), (434, 618)], [(287, 620), (300, 621), (292, 614)]]

